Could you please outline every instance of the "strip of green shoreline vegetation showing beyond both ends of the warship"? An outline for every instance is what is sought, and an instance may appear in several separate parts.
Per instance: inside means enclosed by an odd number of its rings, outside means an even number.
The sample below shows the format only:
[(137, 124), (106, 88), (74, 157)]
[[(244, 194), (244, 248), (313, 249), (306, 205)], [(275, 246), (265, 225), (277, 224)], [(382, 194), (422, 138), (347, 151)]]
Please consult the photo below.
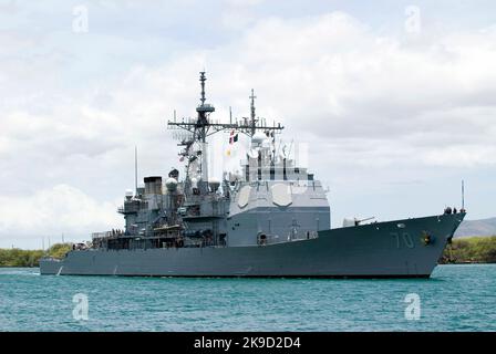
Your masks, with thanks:
[[(0, 249), (0, 267), (39, 267), (44, 256), (62, 259), (72, 243), (55, 243), (50, 249)], [(446, 246), (440, 264), (496, 263), (496, 236), (454, 239)]]

